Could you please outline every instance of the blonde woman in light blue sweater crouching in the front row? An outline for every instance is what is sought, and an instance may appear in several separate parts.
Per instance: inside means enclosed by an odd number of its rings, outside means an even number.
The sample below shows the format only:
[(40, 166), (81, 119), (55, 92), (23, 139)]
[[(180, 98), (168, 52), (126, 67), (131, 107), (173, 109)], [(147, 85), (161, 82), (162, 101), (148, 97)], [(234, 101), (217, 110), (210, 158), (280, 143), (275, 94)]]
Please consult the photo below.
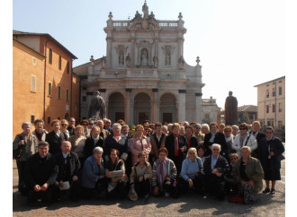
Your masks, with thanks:
[(188, 150), (179, 180), (185, 192), (192, 188), (195, 193), (204, 194), (203, 164), (201, 158), (197, 156), (196, 148)]

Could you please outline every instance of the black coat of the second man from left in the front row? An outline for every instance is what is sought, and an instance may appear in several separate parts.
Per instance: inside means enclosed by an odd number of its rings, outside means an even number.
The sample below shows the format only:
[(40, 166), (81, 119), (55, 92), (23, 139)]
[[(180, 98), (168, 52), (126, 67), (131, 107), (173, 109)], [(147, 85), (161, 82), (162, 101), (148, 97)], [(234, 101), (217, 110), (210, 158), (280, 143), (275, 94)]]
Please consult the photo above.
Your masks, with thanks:
[(75, 152), (69, 152), (66, 164), (62, 152), (58, 152), (55, 155), (55, 158), (58, 165), (57, 181), (69, 181), (72, 183), (72, 178), (74, 176), (78, 177), (81, 167), (77, 154)]

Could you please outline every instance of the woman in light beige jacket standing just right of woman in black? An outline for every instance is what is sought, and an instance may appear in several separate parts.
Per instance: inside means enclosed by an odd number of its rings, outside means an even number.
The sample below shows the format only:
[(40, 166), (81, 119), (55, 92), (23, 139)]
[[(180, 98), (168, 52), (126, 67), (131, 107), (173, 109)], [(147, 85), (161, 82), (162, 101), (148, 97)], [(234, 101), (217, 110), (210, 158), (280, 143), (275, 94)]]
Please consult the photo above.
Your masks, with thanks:
[[(83, 135), (84, 126), (76, 126), (75, 135), (71, 135), (69, 142), (71, 143), (72, 152), (76, 152), (78, 155), (81, 165), (84, 165), (85, 159), (88, 156), (85, 156), (84, 147), (85, 147), (85, 135)], [(93, 152), (93, 150), (92, 150)]]

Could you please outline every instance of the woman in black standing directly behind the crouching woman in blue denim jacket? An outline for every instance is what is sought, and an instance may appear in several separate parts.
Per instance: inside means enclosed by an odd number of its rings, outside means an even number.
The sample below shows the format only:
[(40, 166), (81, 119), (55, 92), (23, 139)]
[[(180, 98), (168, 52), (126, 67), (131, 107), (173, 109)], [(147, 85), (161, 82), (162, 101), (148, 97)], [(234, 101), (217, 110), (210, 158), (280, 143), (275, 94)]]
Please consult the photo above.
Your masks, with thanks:
[(91, 130), (91, 135), (85, 140), (84, 153), (86, 157), (92, 155), (94, 147), (100, 146), (104, 148), (104, 139), (100, 136), (100, 127), (94, 126)]

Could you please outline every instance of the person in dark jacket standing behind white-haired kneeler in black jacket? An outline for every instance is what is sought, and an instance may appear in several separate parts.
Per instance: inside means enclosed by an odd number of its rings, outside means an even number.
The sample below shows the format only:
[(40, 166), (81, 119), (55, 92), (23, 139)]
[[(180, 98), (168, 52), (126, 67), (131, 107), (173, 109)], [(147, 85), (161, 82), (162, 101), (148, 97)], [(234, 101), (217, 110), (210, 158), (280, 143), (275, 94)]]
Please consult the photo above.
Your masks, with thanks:
[(211, 154), (211, 145), (213, 143), (220, 144), (222, 152), (225, 152), (227, 149), (225, 135), (219, 132), (219, 126), (217, 123), (211, 123), (211, 132), (206, 134), (204, 137), (203, 146), (205, 147), (205, 156)]

